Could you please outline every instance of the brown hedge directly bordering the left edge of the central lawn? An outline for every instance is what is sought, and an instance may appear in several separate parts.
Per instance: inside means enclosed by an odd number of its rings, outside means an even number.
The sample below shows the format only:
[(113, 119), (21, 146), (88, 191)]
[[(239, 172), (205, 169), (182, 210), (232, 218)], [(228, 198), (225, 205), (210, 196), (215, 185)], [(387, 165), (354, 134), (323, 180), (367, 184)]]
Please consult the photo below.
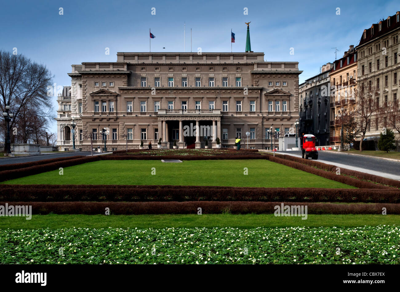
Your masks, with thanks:
[(73, 166), (73, 165), (97, 161), (97, 160), (100, 160), (99, 156), (89, 156), (89, 157), (83, 157), (83, 158), (62, 160), (62, 161), (58, 161), (58, 162), (41, 164), (41, 165), (36, 165), (36, 166), (31, 166), (31, 167), (26, 167), (26, 168), (4, 170), (4, 171), (0, 171), (0, 181), (11, 180), (14, 178), (21, 178), (21, 177), (29, 176), (32, 174), (38, 174), (38, 173), (42, 173), (42, 172), (56, 170), (60, 167), (64, 168), (64, 167), (68, 167), (68, 166)]

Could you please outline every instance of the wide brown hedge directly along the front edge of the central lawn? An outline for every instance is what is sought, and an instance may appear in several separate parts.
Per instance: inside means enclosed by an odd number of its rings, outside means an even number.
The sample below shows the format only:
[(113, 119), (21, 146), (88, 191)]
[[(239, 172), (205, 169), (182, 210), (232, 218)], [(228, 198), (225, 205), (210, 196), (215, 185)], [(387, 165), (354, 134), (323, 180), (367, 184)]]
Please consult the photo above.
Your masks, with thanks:
[(395, 189), (246, 188), (220, 186), (0, 185), (0, 201), (258, 201), (400, 203)]

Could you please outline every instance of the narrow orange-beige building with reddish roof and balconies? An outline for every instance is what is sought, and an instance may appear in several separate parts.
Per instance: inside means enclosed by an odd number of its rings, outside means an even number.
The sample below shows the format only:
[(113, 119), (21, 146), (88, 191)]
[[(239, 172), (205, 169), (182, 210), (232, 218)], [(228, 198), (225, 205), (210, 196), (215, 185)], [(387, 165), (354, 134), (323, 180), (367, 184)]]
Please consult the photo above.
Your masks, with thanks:
[[(356, 110), (355, 91), (357, 80), (357, 54), (354, 46), (344, 52), (343, 58), (336, 60), (330, 72), (330, 145), (340, 145), (340, 118)], [(334, 87), (333, 87), (334, 86)]]

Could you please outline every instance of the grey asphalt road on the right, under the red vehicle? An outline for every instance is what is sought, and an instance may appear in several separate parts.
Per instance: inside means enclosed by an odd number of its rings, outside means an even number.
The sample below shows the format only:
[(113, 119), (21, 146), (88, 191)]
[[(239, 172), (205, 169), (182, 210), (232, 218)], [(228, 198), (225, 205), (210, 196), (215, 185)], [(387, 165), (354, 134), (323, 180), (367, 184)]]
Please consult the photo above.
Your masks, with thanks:
[[(285, 153), (296, 154), (301, 156), (301, 151), (286, 151)], [(323, 151), (323, 150), (318, 151), (317, 161), (319, 160), (326, 160), (334, 163), (336, 162), (338, 164), (346, 164), (350, 166), (355, 166), (400, 176), (400, 162), (391, 160), (351, 155), (346, 153), (331, 153), (329, 151)]]

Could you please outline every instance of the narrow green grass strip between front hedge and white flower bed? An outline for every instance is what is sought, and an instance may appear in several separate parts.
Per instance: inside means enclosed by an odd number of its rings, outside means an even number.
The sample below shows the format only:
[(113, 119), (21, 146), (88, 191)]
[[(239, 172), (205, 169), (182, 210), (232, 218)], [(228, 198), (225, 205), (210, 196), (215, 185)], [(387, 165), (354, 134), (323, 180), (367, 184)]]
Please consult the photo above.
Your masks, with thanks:
[(256, 227), (358, 227), (377, 225), (400, 226), (400, 215), (316, 215), (301, 217), (276, 217), (274, 214), (184, 214), (184, 215), (32, 215), (25, 217), (0, 217), (0, 229), (36, 228), (256, 228)]

